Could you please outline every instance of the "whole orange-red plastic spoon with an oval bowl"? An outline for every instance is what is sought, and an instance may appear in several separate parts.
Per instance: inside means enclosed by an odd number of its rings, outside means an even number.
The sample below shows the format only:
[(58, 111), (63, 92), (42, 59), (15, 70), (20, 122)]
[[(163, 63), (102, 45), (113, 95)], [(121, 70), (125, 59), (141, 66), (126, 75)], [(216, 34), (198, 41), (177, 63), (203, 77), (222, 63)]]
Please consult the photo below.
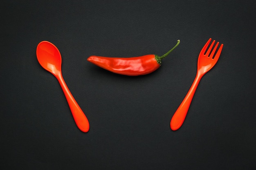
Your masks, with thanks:
[(51, 42), (42, 41), (36, 48), (36, 56), (40, 65), (58, 79), (77, 127), (83, 132), (88, 132), (90, 128), (89, 121), (70, 93), (63, 79), (61, 72), (61, 53), (58, 51), (57, 47)]

